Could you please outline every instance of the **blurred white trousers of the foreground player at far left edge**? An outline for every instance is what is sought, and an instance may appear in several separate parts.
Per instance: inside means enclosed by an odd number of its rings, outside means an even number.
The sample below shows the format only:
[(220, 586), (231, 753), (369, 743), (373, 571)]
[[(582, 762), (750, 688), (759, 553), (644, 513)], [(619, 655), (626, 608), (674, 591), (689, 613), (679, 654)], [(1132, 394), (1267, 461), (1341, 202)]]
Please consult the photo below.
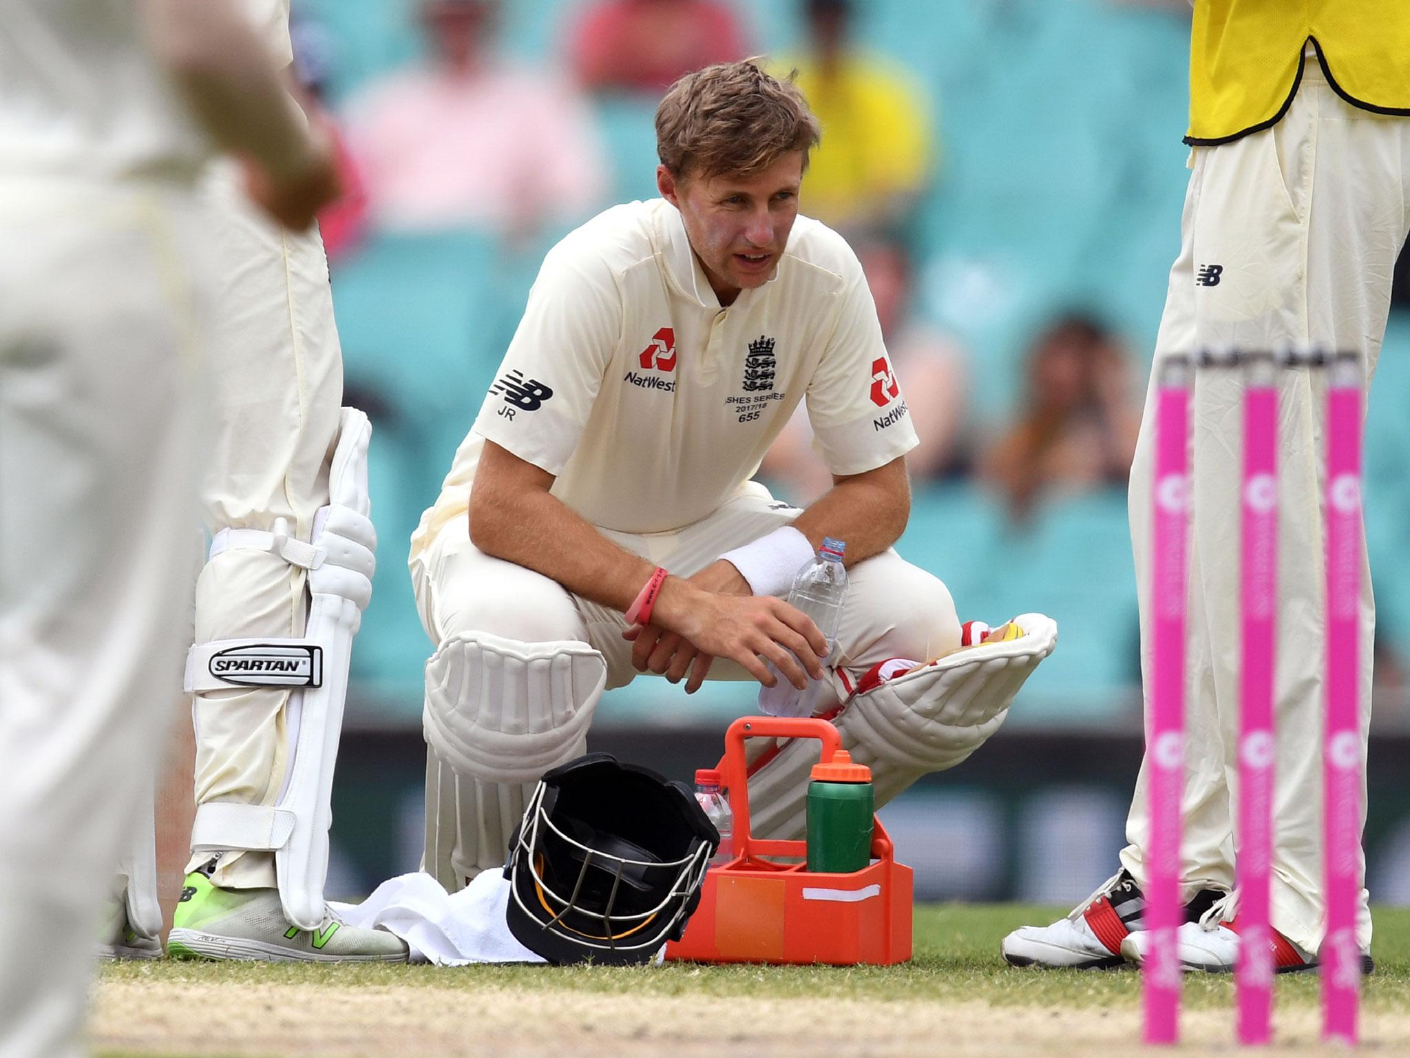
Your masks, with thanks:
[(0, 1055), (83, 1052), (175, 719), (203, 350), (190, 192), (0, 178)]

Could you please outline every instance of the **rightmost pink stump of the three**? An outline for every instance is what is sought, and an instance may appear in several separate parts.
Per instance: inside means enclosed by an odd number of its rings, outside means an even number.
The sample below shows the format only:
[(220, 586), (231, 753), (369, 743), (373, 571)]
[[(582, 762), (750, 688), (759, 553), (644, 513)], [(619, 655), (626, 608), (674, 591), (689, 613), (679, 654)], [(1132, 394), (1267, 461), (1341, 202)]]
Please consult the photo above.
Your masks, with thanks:
[(1361, 948), (1359, 609), (1361, 361), (1340, 353), (1327, 389), (1327, 729), (1323, 750), (1323, 858), (1327, 934), (1320, 961), (1323, 1037), (1356, 1042)]

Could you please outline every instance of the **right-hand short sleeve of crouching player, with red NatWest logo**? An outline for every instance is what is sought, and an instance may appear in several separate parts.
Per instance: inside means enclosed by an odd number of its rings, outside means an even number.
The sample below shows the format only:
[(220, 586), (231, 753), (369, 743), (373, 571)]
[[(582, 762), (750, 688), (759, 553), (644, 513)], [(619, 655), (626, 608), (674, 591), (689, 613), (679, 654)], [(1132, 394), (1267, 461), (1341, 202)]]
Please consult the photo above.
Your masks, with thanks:
[(881, 340), (871, 291), (853, 257), (836, 323), (808, 384), (814, 447), (833, 474), (862, 474), (919, 442)]

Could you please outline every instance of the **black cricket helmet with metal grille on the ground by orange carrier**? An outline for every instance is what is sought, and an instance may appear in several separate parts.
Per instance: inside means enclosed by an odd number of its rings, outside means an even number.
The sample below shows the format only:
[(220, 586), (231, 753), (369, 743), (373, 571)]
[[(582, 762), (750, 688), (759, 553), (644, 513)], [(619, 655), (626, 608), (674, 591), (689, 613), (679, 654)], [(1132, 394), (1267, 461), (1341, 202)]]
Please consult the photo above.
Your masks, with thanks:
[(558, 966), (650, 962), (685, 932), (718, 848), (682, 783), (580, 756), (544, 774), (509, 841), (509, 931)]

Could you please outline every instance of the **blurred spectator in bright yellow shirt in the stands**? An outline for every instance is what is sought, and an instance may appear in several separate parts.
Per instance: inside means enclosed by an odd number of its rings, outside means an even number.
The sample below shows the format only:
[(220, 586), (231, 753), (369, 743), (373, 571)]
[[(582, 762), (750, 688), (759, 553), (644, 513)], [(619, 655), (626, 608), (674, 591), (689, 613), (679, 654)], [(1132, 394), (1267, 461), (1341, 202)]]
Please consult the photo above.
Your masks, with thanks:
[(852, 0), (805, 0), (807, 51), (798, 87), (822, 123), (808, 161), (802, 210), (845, 231), (904, 230), (933, 168), (925, 95), (898, 63), (860, 51)]

